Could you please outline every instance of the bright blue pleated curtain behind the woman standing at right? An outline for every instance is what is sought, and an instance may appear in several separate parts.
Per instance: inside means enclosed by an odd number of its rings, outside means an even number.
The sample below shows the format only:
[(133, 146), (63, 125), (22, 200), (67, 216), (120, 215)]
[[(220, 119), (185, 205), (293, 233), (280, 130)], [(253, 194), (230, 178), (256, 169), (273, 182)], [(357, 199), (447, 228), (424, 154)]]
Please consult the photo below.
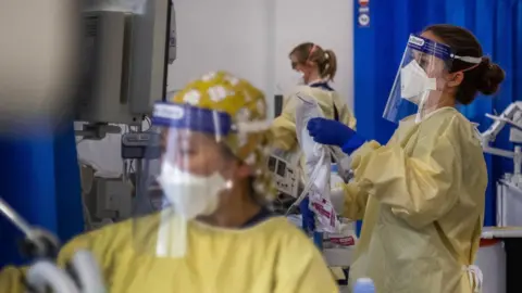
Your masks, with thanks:
[[(501, 113), (512, 101), (522, 98), (522, 0), (371, 0), (370, 24), (359, 25), (355, 1), (355, 112), (358, 130), (364, 137), (386, 143), (395, 125), (384, 120), (382, 113), (410, 33), (420, 33), (430, 24), (448, 23), (472, 30), (484, 53), (506, 71), (500, 92), (492, 98), (480, 97), (462, 107), (464, 115), (487, 129), (490, 120), (485, 113)], [(364, 1), (363, 1), (364, 2)], [(496, 148), (512, 150), (509, 131), (500, 133)], [(496, 219), (495, 181), (512, 163), (485, 155), (489, 186), (486, 193), (485, 225)]]

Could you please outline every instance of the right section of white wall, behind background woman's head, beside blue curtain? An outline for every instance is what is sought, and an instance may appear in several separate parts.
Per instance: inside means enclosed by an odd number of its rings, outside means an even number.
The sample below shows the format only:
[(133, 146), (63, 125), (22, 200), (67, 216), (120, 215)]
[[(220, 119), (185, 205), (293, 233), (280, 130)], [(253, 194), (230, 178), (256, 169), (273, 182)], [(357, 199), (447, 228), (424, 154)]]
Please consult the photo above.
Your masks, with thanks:
[(353, 100), (353, 1), (279, 0), (276, 7), (276, 80), (291, 82), (288, 53), (297, 44), (311, 41), (337, 55), (333, 87)]

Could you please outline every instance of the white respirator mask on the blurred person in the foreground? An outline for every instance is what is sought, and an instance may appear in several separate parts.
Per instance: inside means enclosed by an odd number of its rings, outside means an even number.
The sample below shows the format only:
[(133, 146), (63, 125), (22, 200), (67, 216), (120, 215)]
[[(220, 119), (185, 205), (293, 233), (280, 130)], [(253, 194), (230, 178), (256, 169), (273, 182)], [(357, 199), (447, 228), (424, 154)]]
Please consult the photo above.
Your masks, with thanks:
[(185, 219), (211, 215), (220, 203), (220, 192), (226, 180), (214, 173), (209, 177), (184, 171), (163, 162), (158, 182), (177, 215)]

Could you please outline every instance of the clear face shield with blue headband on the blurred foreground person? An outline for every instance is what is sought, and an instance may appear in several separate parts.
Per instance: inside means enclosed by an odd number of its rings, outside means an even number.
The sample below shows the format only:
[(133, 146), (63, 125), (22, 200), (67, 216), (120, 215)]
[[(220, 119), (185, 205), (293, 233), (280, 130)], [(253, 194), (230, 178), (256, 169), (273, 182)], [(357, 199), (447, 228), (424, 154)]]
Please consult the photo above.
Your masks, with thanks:
[(183, 257), (191, 220), (211, 217), (232, 189), (237, 162), (223, 139), (228, 114), (188, 104), (157, 103), (151, 141), (144, 161), (133, 231), (137, 250), (159, 257)]

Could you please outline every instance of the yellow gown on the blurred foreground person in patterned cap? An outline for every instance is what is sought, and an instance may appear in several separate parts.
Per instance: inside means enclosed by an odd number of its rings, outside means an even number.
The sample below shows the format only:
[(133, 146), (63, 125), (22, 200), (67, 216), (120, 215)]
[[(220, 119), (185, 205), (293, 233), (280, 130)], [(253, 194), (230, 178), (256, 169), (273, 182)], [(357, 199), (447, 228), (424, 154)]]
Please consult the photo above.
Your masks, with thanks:
[[(159, 217), (140, 220), (157, 227)], [(108, 292), (115, 293), (338, 292), (319, 251), (286, 218), (274, 217), (243, 230), (198, 222), (187, 229), (185, 258), (137, 253), (145, 243), (136, 241), (128, 220), (77, 237), (62, 249), (59, 263), (78, 249), (88, 249), (102, 267)], [(0, 292), (22, 293), (21, 277), (13, 268), (2, 271)]]

